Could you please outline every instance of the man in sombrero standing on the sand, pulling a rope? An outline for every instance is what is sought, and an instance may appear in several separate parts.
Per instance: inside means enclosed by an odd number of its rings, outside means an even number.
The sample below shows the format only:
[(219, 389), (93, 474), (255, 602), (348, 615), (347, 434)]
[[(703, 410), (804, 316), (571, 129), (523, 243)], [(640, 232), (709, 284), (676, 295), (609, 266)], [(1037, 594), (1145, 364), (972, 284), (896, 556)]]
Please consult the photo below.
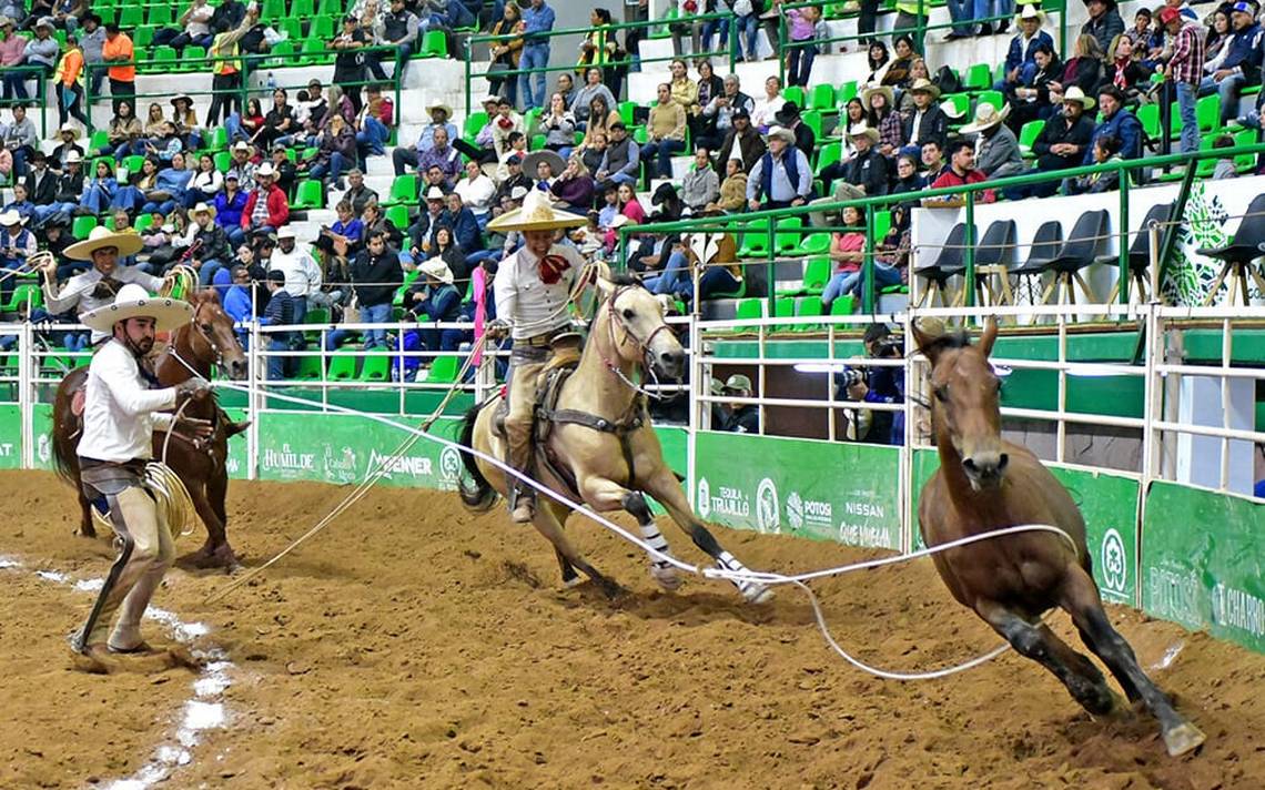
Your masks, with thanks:
[[(158, 412), (187, 397), (205, 397), (210, 384), (195, 377), (176, 387), (151, 389), (157, 382), (142, 359), (153, 348), (156, 331), (178, 329), (192, 316), (187, 302), (151, 297), (135, 283), (119, 288), (113, 303), (80, 315), (81, 322), (111, 336), (89, 368), (83, 435), (77, 447), (85, 494), (94, 501), (105, 498), (119, 550), (75, 640), (75, 650), (92, 659), (149, 650), (140, 638), (140, 618), (171, 566), (175, 546), (145, 488), (145, 461), (154, 426), (170, 428), (172, 423), (171, 415)], [(120, 604), (123, 613), (106, 638)]]

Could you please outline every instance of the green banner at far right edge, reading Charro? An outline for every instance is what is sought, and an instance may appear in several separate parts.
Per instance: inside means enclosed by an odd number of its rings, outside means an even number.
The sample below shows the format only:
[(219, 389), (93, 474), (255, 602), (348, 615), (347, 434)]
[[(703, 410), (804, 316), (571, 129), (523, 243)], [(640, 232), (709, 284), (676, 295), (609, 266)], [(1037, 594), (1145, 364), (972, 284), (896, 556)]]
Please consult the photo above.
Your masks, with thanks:
[(1142, 609), (1265, 652), (1265, 504), (1152, 483), (1142, 525)]

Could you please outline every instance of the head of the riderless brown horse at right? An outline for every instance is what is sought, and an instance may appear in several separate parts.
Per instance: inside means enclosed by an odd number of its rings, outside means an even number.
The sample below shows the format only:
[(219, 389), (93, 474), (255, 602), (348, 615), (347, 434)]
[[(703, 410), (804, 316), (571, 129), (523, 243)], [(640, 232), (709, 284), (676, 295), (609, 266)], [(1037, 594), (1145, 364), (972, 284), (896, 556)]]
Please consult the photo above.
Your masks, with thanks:
[(913, 339), (931, 362), (931, 422), (936, 444), (947, 442), (961, 459), (975, 490), (1001, 484), (1009, 461), (1002, 451), (1002, 379), (988, 363), (997, 340), (989, 319), (978, 345), (965, 332), (926, 334), (913, 325)]

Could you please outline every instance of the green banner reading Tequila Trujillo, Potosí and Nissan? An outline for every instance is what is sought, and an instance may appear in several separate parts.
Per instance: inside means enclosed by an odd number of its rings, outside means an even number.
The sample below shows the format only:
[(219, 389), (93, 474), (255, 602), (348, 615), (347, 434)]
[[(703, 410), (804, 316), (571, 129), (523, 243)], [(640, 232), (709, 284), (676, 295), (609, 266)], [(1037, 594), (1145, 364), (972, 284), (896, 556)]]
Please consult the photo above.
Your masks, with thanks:
[(697, 451), (705, 520), (901, 549), (899, 447), (700, 431)]

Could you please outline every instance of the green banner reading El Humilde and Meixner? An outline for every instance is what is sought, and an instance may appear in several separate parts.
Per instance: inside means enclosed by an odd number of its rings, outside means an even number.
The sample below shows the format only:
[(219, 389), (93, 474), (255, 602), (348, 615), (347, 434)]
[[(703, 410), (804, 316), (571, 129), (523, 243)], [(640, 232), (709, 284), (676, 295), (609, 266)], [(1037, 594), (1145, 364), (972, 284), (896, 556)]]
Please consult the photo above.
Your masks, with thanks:
[[(421, 422), (419, 417), (398, 420)], [(459, 420), (440, 420), (434, 432), (452, 437), (459, 425)], [(264, 412), (259, 416), (259, 479), (359, 483), (409, 437), (407, 431), (354, 415)], [(457, 450), (421, 437), (391, 460), (382, 483), (455, 490), (460, 470)]]

